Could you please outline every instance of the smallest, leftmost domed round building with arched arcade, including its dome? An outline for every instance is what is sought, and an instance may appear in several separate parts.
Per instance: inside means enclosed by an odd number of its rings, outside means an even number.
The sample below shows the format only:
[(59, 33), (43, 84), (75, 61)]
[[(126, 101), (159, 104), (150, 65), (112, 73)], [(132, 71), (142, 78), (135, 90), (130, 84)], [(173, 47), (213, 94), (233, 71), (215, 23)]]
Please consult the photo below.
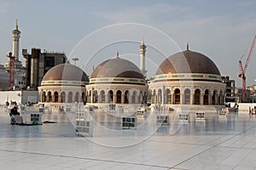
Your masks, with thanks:
[(38, 87), (39, 103), (61, 105), (84, 103), (89, 79), (82, 69), (68, 63), (55, 65), (46, 72)]

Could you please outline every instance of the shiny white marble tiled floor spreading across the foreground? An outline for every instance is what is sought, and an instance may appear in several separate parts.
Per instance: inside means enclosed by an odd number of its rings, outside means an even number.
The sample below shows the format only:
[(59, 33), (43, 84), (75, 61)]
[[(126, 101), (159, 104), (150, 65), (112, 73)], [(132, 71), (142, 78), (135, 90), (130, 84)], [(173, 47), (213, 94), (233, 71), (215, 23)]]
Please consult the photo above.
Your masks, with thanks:
[(256, 169), (256, 116), (245, 113), (226, 119), (208, 113), (206, 121), (182, 124), (172, 119), (148, 132), (150, 122), (116, 135), (113, 122), (97, 119), (92, 138), (75, 136), (66, 114), (44, 119), (57, 123), (9, 125), (0, 111), (1, 169)]

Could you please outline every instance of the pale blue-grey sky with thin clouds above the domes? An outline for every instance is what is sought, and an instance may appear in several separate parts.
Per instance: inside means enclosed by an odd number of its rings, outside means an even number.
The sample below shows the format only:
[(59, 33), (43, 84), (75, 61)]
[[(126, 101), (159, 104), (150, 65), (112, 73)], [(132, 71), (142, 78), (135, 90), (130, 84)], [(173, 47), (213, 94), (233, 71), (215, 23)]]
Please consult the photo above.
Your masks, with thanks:
[[(156, 70), (150, 64), (159, 65), (163, 56), (184, 50), (189, 42), (192, 51), (206, 54), (223, 76), (235, 79), (236, 86), (241, 87), (238, 60), (244, 54), (245, 64), (256, 34), (255, 8), (254, 0), (0, 0), (0, 62), (8, 60), (17, 19), (23, 63), (22, 48), (29, 52), (41, 48), (65, 52), (69, 59), (79, 57), (77, 65), (88, 75), (92, 65), (113, 58), (116, 51), (138, 65), (136, 54), (143, 37), (148, 44), (146, 69), (152, 76)], [(122, 23), (136, 24), (120, 26)], [(121, 45), (114, 43), (122, 40)], [(256, 49), (247, 68), (247, 85), (256, 84), (255, 65)]]

